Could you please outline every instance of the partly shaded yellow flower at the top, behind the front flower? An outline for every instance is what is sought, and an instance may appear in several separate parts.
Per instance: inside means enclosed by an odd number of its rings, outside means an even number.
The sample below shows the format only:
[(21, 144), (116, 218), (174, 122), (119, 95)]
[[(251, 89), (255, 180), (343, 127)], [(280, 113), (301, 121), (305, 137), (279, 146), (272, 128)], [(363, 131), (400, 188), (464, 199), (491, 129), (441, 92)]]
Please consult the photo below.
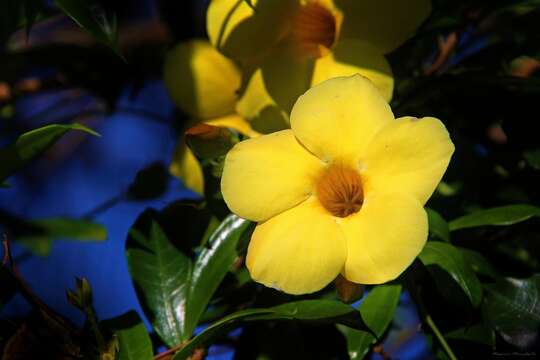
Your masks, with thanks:
[(276, 106), (289, 113), (311, 86), (357, 73), (389, 101), (394, 79), (384, 54), (405, 42), (431, 11), (430, 0), (253, 3), (255, 10), (242, 0), (213, 0), (207, 13), (211, 43), (240, 62), (249, 78), (241, 99), (249, 118), (265, 117)]

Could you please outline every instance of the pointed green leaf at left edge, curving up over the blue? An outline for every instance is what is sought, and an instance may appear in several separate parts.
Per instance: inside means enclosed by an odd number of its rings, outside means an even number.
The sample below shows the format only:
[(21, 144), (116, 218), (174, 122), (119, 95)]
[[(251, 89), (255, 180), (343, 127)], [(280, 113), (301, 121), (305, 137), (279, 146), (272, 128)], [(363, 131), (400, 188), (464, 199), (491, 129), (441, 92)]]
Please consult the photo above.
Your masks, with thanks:
[(84, 131), (99, 136), (95, 131), (80, 124), (53, 124), (24, 133), (14, 144), (0, 150), (0, 182), (22, 169), (70, 130)]

